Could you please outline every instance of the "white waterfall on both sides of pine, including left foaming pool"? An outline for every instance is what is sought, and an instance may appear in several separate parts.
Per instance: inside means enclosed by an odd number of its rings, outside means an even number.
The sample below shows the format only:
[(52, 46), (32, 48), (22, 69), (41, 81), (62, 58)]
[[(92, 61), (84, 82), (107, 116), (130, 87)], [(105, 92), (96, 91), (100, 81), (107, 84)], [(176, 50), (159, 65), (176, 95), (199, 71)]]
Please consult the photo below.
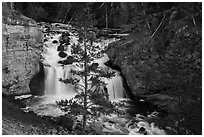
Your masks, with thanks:
[[(60, 109), (56, 106), (55, 101), (60, 101), (62, 99), (71, 99), (77, 92), (74, 85), (65, 84), (60, 79), (69, 79), (80, 77), (72, 74), (71, 70), (81, 70), (82, 66), (76, 65), (75, 63), (68, 63), (66, 65), (61, 64), (66, 60), (67, 57), (71, 55), (71, 47), (74, 44), (78, 43), (78, 38), (74, 35), (69, 36), (70, 44), (61, 43), (60, 38), (62, 35), (50, 35), (47, 40), (44, 42), (42, 63), (44, 64), (45, 72), (45, 95), (33, 99), (28, 105), (28, 109), (36, 112), (39, 115), (51, 115), (51, 116), (60, 116), (63, 115)], [(102, 41), (99, 43), (94, 43), (96, 47), (100, 47), (98, 52), (105, 48), (110, 41)], [(61, 47), (60, 47), (61, 46)], [(63, 46), (63, 47), (62, 47)], [(60, 56), (60, 53), (62, 53)], [(65, 56), (66, 55), (66, 56)], [(106, 66), (104, 63), (108, 61), (109, 58), (106, 54), (103, 57), (95, 59), (94, 62), (99, 64), (99, 69), (102, 69), (104, 72), (115, 71)], [(118, 71), (115, 71), (115, 76), (110, 79), (104, 79), (104, 82), (107, 84), (106, 88), (109, 94), (109, 100), (120, 100), (125, 97), (125, 90), (122, 86), (122, 77)], [(81, 80), (78, 84), (84, 84)], [(91, 84), (91, 83), (90, 83)]]

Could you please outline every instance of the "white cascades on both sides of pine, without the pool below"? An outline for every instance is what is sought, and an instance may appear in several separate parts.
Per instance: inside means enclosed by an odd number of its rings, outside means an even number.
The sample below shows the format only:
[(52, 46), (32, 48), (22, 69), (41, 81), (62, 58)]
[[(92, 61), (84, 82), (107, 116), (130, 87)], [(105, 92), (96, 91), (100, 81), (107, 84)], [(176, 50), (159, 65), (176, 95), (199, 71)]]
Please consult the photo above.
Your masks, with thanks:
[[(66, 97), (66, 99), (74, 97), (76, 91), (74, 90), (74, 85), (65, 84), (59, 79), (69, 79), (72, 77), (70, 73), (73, 65), (60, 65), (58, 62), (64, 60), (58, 56), (59, 52), (57, 47), (60, 45), (53, 44), (53, 41), (59, 41), (59, 38), (52, 39), (45, 42), (45, 53), (43, 53), (43, 63), (45, 71), (45, 95), (46, 96), (56, 96), (56, 97)], [(71, 55), (71, 46), (69, 45), (66, 49), (66, 54)], [(104, 55), (100, 59), (96, 59), (99, 64), (99, 68), (106, 69), (110, 71), (111, 69), (104, 65), (104, 63), (109, 60), (107, 55)], [(113, 71), (113, 70), (111, 70)], [(107, 83), (107, 90), (109, 93), (110, 100), (122, 99), (125, 97), (125, 89), (122, 85), (122, 77), (118, 71), (115, 71), (115, 76), (111, 79), (105, 79)]]

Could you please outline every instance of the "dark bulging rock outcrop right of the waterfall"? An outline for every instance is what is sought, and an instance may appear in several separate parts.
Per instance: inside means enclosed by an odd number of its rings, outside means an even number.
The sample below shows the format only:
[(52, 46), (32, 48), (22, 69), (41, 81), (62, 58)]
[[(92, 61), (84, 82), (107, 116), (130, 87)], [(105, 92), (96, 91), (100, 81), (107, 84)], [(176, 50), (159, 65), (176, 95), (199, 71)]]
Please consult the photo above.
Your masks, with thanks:
[[(144, 100), (169, 112), (180, 112), (181, 103), (188, 105), (200, 104), (201, 87), (193, 87), (185, 83), (192, 76), (186, 73), (174, 59), (162, 60), (153, 47), (146, 45), (149, 36), (131, 34), (120, 41), (111, 43), (107, 54), (114, 66), (121, 69), (121, 73), (131, 89), (131, 92)], [(175, 61), (175, 62), (173, 62)], [(200, 80), (194, 71), (195, 78)]]

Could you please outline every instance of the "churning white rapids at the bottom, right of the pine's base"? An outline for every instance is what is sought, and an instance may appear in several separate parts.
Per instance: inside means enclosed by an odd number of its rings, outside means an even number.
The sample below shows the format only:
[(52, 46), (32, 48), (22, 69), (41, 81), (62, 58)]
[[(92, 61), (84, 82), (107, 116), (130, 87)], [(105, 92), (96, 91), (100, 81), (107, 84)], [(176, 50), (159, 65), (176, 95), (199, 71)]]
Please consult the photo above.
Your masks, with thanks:
[[(144, 116), (143, 116), (144, 117)], [(136, 122), (124, 116), (111, 114), (108, 116), (102, 115), (95, 123), (103, 127), (102, 131), (123, 134), (123, 135), (165, 135), (165, 131), (155, 126), (154, 123), (142, 121)], [(141, 128), (144, 130), (142, 131)]]

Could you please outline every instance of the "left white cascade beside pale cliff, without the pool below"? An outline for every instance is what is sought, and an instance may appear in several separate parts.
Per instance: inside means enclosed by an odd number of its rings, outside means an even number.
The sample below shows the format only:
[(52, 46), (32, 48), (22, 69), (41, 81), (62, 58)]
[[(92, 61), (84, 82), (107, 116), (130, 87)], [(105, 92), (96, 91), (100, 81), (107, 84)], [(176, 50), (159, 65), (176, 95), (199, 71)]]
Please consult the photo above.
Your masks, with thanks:
[[(59, 38), (45, 42), (45, 52), (42, 54), (44, 57), (44, 71), (45, 71), (45, 96), (55, 96), (57, 98), (69, 99), (76, 95), (74, 86), (65, 84), (60, 79), (69, 79), (72, 77), (70, 73), (72, 65), (62, 65), (58, 62), (64, 60), (59, 56), (57, 47)], [(56, 44), (53, 44), (55, 41)], [(57, 42), (56, 42), (57, 41)], [(70, 48), (65, 51), (66, 55), (70, 54)]]

